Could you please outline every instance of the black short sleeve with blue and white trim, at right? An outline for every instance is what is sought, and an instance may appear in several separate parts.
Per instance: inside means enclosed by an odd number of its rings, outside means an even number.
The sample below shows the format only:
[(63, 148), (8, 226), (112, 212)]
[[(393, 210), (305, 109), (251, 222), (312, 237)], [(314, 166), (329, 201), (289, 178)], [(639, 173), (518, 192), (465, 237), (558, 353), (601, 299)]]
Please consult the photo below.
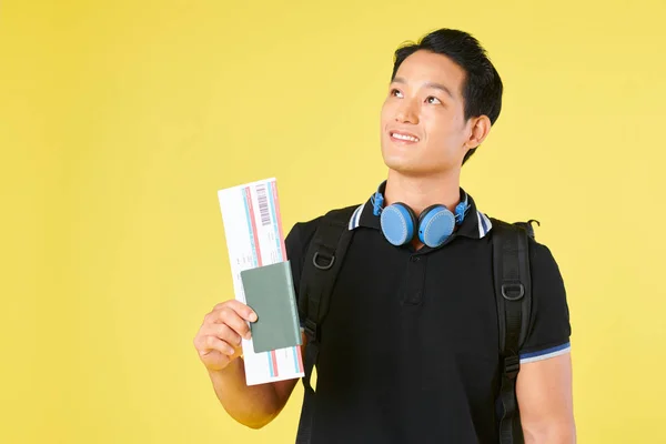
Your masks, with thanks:
[(521, 363), (571, 351), (571, 323), (564, 280), (547, 246), (531, 240), (532, 315)]

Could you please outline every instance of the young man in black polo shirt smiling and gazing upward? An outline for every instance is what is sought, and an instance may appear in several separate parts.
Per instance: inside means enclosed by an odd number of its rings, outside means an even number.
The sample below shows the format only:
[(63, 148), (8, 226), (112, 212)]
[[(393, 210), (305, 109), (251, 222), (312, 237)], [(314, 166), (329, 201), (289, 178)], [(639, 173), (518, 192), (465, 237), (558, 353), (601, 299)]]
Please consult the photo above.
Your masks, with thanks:
[[(310, 442), (496, 443), (494, 231), (460, 173), (500, 115), (502, 81), (474, 38), (447, 29), (398, 49), (391, 80), (381, 115), (387, 180), (350, 219), (354, 235), (321, 326)], [(431, 230), (438, 218), (451, 226)], [(287, 235), (296, 289), (321, 220)], [(410, 221), (421, 236), (403, 230)], [(546, 246), (531, 239), (529, 251), (532, 315), (516, 382), (522, 430), (527, 443), (573, 443), (564, 284)], [(226, 301), (194, 339), (222, 405), (250, 427), (272, 421), (296, 384), (244, 384), (240, 340), (255, 319)]]

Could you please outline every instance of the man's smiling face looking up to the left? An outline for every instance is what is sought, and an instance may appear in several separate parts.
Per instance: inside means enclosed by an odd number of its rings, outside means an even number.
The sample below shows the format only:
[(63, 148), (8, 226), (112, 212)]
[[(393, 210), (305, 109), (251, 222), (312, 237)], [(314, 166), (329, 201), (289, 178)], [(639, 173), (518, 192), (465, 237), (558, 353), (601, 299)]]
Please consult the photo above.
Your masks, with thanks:
[[(397, 69), (382, 108), (382, 155), (410, 175), (460, 169), (470, 148), (464, 120), (465, 71), (445, 56), (416, 51)], [(466, 144), (467, 143), (467, 144)]]

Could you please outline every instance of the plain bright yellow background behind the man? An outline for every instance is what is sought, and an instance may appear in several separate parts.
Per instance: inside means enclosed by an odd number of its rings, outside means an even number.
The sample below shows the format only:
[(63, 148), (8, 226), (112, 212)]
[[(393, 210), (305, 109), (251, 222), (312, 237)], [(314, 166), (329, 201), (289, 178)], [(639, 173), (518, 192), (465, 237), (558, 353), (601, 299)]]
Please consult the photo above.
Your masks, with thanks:
[(246, 430), (192, 345), (233, 294), (216, 191), (276, 176), (285, 230), (367, 199), (393, 50), (440, 27), (503, 77), (463, 186), (542, 222), (579, 442), (666, 442), (665, 4), (3, 1), (0, 442), (293, 442), (301, 385)]

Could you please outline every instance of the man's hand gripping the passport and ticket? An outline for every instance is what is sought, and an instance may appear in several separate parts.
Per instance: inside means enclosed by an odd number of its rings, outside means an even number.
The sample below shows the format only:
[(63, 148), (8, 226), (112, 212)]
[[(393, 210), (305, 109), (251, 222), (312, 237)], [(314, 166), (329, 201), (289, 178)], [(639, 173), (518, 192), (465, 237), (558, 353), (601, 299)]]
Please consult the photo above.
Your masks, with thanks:
[(215, 305), (203, 317), (194, 347), (209, 371), (221, 371), (241, 355), (241, 337), (250, 339), (246, 321), (255, 322), (256, 313), (235, 300)]

